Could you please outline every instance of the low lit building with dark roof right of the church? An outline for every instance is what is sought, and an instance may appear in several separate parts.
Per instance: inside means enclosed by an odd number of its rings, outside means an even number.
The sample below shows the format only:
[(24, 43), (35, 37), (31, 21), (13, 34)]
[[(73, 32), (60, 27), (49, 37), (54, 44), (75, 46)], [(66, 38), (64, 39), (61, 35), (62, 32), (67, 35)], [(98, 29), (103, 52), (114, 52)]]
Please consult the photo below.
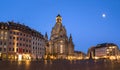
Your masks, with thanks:
[(119, 48), (117, 45), (113, 43), (103, 43), (98, 44), (95, 47), (92, 47), (89, 50), (89, 55), (93, 59), (99, 59), (99, 58), (108, 58), (108, 59), (118, 59), (119, 56)]

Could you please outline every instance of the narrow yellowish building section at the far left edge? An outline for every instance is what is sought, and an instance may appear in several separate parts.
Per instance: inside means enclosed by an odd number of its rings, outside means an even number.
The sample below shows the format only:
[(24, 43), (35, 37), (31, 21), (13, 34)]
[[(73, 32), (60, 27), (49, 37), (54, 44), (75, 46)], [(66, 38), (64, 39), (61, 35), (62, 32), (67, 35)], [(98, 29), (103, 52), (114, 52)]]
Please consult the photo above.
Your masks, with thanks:
[(8, 47), (8, 25), (0, 23), (0, 58), (6, 59)]

